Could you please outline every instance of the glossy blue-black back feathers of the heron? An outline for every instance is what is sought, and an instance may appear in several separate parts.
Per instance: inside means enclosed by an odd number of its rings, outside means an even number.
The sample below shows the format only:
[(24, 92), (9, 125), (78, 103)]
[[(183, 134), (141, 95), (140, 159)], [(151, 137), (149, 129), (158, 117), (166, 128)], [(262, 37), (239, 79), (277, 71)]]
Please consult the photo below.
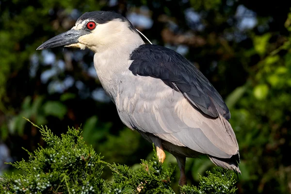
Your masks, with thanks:
[(230, 118), (229, 110), (210, 81), (178, 52), (158, 45), (141, 45), (130, 54), (133, 75), (161, 79), (181, 92), (196, 108), (210, 117)]

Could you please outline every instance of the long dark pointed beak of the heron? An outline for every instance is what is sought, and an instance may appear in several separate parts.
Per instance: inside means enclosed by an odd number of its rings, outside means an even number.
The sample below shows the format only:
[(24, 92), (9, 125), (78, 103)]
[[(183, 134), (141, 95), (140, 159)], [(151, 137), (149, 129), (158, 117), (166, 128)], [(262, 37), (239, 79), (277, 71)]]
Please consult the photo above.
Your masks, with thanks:
[(80, 38), (80, 36), (88, 33), (90, 32), (83, 29), (81, 30), (72, 29), (49, 39), (48, 41), (44, 42), (41, 46), (39, 46), (36, 50), (75, 44), (78, 43), (78, 39)]

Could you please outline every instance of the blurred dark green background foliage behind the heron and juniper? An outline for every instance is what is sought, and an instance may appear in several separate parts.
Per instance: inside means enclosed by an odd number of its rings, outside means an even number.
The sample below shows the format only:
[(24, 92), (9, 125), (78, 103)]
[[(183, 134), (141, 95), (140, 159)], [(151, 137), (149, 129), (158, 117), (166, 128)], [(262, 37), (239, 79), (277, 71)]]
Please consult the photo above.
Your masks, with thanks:
[[(58, 135), (81, 126), (106, 162), (135, 168), (152, 156), (104, 94), (91, 51), (35, 50), (84, 12), (112, 10), (183, 54), (224, 97), (241, 152), (237, 193), (291, 193), (290, 8), (290, 0), (0, 0), (0, 174), (12, 172), (3, 162), (28, 159), (21, 147), (45, 146), (23, 116)], [(177, 164), (167, 154), (169, 163)], [(213, 167), (188, 159), (188, 184)]]

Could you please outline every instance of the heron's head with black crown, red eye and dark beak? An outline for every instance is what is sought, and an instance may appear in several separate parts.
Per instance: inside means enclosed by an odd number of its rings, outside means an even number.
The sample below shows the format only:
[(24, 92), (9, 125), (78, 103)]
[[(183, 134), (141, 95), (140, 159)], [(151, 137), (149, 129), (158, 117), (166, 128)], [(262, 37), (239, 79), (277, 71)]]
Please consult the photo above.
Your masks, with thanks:
[(71, 30), (49, 39), (37, 50), (65, 46), (89, 48), (98, 52), (100, 48), (106, 49), (121, 42), (126, 43), (130, 35), (138, 34), (129, 20), (120, 14), (104, 11), (87, 12), (79, 17)]

